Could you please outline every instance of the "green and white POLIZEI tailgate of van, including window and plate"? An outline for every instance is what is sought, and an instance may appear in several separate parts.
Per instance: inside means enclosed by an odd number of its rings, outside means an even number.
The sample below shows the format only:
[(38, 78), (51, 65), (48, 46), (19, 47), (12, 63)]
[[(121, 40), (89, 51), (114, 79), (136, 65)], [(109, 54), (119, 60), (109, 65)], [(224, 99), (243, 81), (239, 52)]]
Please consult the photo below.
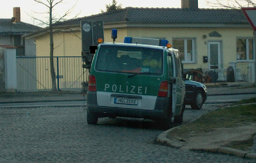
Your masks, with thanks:
[(163, 50), (101, 45), (95, 67), (97, 104), (153, 110), (163, 80)]

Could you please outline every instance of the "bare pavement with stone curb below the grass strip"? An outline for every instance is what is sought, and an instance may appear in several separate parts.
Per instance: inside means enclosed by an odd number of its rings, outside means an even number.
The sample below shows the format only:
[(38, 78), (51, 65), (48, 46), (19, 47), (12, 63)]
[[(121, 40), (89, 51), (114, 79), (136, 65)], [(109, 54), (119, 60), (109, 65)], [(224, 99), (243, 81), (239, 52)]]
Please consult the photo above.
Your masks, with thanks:
[(159, 136), (157, 136), (156, 141), (160, 142), (161, 144), (167, 144), (169, 146), (179, 149), (211, 151), (214, 153), (236, 155), (242, 158), (256, 159), (256, 135), (253, 138), (253, 144), (251, 146), (251, 149), (248, 151), (233, 149), (224, 146), (225, 144), (233, 141), (244, 141), (249, 139), (251, 135), (256, 133), (256, 122), (231, 128), (219, 128), (216, 131), (197, 134), (186, 138), (175, 136), (173, 137), (173, 139), (169, 139), (167, 135), (178, 127), (180, 126), (173, 127), (169, 130), (162, 132)]

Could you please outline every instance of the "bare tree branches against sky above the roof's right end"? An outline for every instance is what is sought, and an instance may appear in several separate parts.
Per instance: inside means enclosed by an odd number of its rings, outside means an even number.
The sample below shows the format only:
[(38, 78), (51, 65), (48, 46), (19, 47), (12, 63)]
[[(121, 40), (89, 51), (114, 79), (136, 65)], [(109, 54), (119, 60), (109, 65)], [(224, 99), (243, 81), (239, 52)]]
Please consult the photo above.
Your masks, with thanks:
[(214, 8), (240, 9), (255, 7), (256, 0), (207, 0), (206, 3)]

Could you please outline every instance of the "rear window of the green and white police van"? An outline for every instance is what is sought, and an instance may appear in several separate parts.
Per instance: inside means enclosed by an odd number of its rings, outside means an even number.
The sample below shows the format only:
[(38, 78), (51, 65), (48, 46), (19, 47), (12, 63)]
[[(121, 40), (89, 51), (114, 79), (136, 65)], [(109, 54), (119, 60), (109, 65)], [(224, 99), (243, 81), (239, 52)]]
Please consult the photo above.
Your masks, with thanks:
[(162, 75), (163, 50), (147, 47), (101, 45), (97, 54), (97, 71)]

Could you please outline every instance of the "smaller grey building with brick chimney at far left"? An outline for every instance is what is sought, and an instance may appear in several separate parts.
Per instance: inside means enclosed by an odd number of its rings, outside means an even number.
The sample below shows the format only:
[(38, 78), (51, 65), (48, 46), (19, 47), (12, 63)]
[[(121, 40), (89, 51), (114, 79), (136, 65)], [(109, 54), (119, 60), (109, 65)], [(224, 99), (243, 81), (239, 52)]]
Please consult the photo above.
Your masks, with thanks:
[[(21, 36), (41, 29), (38, 26), (21, 22), (19, 7), (13, 8), (13, 18), (0, 19), (0, 44), (16, 46), (16, 54), (35, 55), (35, 44), (33, 40), (24, 40)], [(27, 45), (27, 47), (26, 47)]]

